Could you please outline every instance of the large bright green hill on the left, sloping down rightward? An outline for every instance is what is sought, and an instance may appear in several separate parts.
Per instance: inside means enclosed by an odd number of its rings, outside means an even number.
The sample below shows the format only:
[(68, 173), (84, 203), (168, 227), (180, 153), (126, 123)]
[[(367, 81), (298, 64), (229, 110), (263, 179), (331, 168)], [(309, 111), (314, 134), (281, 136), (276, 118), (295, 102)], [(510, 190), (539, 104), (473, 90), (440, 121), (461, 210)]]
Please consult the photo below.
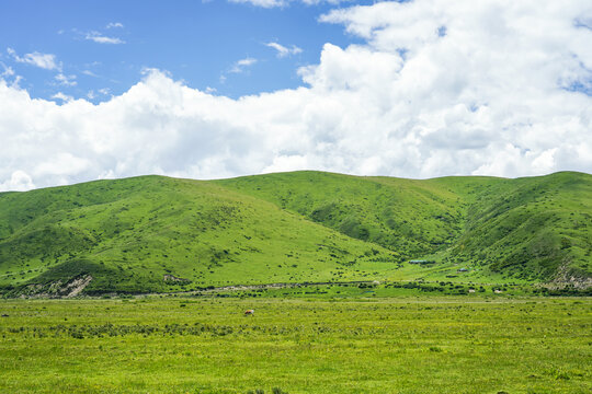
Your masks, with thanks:
[(4, 286), (88, 274), (87, 292), (351, 280), (400, 259), (214, 183), (146, 176), (0, 196)]

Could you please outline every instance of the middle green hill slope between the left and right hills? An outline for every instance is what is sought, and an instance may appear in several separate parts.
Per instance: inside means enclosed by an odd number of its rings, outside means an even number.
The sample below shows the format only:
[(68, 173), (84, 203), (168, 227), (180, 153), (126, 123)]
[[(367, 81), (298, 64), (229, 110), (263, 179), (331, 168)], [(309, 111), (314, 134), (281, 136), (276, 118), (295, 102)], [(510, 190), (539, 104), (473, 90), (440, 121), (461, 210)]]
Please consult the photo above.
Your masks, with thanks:
[[(466, 220), (466, 198), (425, 181), (297, 172), (218, 181), (351, 237), (408, 257), (452, 245)], [(496, 183), (480, 178), (479, 184)]]

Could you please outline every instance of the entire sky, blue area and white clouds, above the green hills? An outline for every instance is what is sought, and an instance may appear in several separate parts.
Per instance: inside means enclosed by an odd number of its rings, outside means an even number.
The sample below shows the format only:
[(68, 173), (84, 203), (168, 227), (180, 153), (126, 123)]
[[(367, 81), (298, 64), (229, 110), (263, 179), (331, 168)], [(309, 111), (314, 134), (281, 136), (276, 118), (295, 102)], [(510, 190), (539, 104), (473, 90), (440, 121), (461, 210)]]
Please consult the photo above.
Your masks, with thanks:
[(590, 0), (0, 2), (0, 192), (592, 173)]

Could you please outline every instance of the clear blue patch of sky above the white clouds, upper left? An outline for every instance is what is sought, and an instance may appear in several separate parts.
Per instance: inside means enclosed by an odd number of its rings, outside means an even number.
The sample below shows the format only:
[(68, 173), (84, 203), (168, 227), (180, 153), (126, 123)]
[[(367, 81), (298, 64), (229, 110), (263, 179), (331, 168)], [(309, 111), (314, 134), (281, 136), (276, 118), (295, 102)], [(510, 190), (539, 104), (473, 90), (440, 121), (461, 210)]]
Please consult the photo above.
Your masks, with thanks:
[[(331, 8), (219, 0), (4, 1), (0, 61), (23, 78), (21, 86), (35, 97), (62, 92), (104, 101), (129, 89), (145, 68), (167, 70), (190, 86), (230, 97), (271, 92), (301, 85), (297, 69), (318, 62), (325, 43), (360, 42), (342, 26), (318, 22)], [(280, 57), (270, 43), (292, 51)], [(47, 70), (14, 57), (34, 53), (54, 55), (57, 67)], [(248, 65), (237, 68), (244, 59)], [(56, 80), (59, 73), (66, 83)]]

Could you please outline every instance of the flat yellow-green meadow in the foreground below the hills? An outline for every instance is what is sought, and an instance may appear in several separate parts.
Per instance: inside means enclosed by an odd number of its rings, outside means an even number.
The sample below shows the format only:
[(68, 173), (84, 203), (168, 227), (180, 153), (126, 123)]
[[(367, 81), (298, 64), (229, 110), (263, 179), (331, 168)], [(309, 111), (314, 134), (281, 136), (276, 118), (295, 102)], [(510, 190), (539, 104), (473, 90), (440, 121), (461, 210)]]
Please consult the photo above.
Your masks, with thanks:
[(592, 392), (590, 298), (1, 300), (0, 313), (2, 393)]

